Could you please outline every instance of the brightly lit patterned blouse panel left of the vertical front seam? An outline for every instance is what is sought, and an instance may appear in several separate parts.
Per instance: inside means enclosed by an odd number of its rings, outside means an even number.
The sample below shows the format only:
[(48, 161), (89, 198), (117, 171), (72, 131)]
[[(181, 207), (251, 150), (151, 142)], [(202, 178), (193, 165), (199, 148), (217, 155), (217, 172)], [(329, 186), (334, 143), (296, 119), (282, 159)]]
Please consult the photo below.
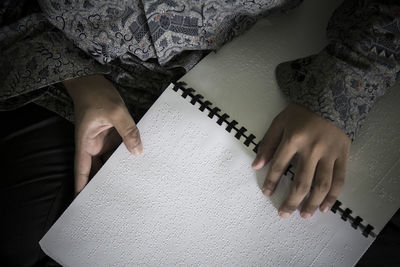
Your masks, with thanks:
[(156, 57), (141, 0), (38, 2), (54, 27), (101, 64), (127, 53), (143, 61)]

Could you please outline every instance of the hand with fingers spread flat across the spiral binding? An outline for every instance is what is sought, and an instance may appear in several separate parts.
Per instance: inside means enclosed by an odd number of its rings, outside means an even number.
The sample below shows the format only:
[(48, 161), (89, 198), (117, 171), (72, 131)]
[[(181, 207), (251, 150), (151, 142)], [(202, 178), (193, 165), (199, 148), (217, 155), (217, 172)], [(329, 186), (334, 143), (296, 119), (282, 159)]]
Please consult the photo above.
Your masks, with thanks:
[(300, 213), (309, 218), (318, 207), (327, 212), (335, 203), (344, 184), (350, 144), (350, 138), (329, 121), (289, 104), (271, 123), (252, 167), (258, 170), (270, 163), (262, 188), (264, 195), (270, 196), (296, 155), (292, 187), (278, 214), (289, 217), (310, 192)]

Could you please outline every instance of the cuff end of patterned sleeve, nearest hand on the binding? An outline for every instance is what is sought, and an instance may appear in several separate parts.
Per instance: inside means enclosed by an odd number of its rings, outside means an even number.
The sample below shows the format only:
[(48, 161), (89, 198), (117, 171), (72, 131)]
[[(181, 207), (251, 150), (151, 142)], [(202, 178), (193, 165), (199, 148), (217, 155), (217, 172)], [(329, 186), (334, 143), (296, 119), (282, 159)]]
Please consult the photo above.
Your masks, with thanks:
[(327, 49), (276, 68), (278, 86), (290, 101), (330, 121), (352, 141), (376, 98), (394, 83), (393, 76), (378, 69), (355, 68)]

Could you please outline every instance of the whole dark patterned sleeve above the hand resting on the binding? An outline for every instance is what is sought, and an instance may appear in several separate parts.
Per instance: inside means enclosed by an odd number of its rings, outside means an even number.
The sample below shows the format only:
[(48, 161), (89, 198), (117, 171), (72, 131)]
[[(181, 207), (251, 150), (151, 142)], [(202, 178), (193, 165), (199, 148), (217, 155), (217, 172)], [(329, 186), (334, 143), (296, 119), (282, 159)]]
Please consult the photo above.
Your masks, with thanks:
[(276, 68), (290, 101), (342, 129), (353, 141), (375, 101), (400, 76), (400, 3), (345, 0), (331, 17), (329, 44)]

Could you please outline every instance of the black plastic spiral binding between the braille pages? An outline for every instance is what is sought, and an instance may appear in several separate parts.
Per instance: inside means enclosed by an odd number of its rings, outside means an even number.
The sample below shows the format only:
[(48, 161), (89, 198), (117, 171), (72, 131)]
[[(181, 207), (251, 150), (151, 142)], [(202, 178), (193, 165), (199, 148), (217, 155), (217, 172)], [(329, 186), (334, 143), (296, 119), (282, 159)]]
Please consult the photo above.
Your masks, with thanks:
[[(196, 93), (196, 90), (194, 90), (193, 88), (189, 88), (186, 86), (185, 82), (177, 82), (174, 84), (174, 87), (172, 88), (175, 92), (178, 92), (178, 90), (182, 91), (182, 97), (183, 98), (187, 98), (188, 96), (191, 98), (190, 103), (192, 105), (195, 105), (196, 103), (198, 103), (200, 105), (199, 110), (200, 111), (208, 111), (208, 117), (209, 118), (214, 118), (214, 116), (216, 116), (217, 119), (217, 124), (218, 125), (222, 125), (222, 123), (225, 123), (226, 126), (226, 131), (231, 133), (232, 131), (236, 132), (234, 134), (234, 137), (238, 140), (243, 139), (243, 144), (247, 147), (250, 147), (250, 145), (253, 145), (254, 148), (252, 149), (255, 153), (257, 153), (258, 151), (258, 143), (255, 142), (255, 135), (253, 134), (246, 134), (247, 129), (245, 127), (239, 127), (238, 126), (238, 122), (235, 120), (229, 120), (230, 116), (226, 113), (223, 113), (222, 115), (219, 114), (219, 112), (221, 111), (221, 109), (219, 109), (218, 107), (213, 107), (212, 103), (208, 100), (204, 100), (204, 97), (200, 94)], [(294, 171), (293, 171), (293, 165), (290, 164), (285, 172), (284, 172), (285, 176), (289, 176), (290, 175), (290, 179), (293, 180), (294, 177)], [(363, 236), (368, 237), (368, 236), (372, 236), (372, 237), (376, 237), (376, 234), (372, 231), (374, 229), (373, 226), (371, 226), (370, 224), (365, 225), (362, 224), (363, 219), (360, 218), (359, 216), (357, 217), (353, 217), (351, 215), (352, 210), (349, 208), (342, 208), (340, 207), (342, 205), (342, 203), (339, 200), (336, 200), (335, 204), (332, 206), (331, 211), (333, 213), (339, 213), (339, 215), (341, 215), (341, 219), (343, 221), (349, 221), (351, 223), (351, 226), (354, 229), (359, 228), (362, 231)]]

